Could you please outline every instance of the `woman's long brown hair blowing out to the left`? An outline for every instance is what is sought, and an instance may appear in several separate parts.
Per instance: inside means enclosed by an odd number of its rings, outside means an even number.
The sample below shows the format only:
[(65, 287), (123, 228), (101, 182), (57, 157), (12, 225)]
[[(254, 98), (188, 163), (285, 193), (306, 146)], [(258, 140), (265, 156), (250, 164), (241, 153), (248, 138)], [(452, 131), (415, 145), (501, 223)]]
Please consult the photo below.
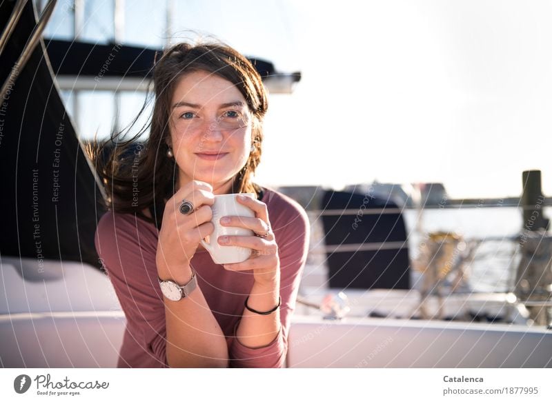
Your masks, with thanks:
[[(157, 59), (157, 57), (156, 57)], [(178, 43), (163, 52), (153, 67), (155, 103), (148, 124), (130, 139), (124, 139), (144, 113), (151, 94), (138, 116), (124, 132), (111, 134), (110, 139), (89, 145), (88, 152), (105, 187), (105, 207), (121, 213), (135, 213), (161, 227), (164, 199), (175, 193), (178, 168), (175, 159), (167, 157), (170, 101), (179, 78), (194, 71), (206, 71), (233, 83), (242, 93), (253, 114), (252, 145), (244, 168), (236, 175), (232, 192), (254, 192), (261, 189), (251, 178), (261, 159), (262, 121), (268, 109), (268, 97), (255, 67), (233, 48), (223, 43), (201, 43), (193, 46)], [(148, 128), (150, 135), (143, 145), (137, 138)], [(154, 207), (149, 219), (143, 210)]]

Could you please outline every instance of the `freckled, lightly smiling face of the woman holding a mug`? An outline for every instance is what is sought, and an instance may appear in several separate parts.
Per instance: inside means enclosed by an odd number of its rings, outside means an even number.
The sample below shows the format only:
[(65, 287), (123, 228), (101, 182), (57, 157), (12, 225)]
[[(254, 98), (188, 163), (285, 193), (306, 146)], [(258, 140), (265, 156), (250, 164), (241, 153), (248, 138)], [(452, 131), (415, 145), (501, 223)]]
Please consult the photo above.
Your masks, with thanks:
[(179, 188), (192, 180), (228, 192), (251, 148), (252, 115), (230, 81), (204, 71), (179, 79), (170, 103), (172, 152)]

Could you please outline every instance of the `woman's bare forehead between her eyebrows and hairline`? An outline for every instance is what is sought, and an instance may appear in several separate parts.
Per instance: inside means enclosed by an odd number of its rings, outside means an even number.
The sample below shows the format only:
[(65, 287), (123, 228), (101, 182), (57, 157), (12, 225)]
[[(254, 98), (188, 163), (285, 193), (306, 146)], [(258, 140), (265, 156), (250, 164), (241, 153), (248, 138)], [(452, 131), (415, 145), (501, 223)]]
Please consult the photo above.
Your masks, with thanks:
[(172, 104), (179, 101), (208, 105), (245, 99), (230, 81), (210, 72), (194, 71), (178, 79), (172, 94)]

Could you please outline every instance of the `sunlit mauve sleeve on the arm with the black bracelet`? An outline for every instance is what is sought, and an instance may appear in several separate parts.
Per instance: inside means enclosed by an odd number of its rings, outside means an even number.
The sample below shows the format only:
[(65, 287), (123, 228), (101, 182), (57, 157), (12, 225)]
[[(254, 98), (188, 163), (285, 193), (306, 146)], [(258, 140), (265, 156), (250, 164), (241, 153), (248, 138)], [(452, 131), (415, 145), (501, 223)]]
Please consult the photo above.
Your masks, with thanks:
[(292, 219), (286, 220), (282, 225), (273, 225), (280, 259), (280, 332), (270, 344), (262, 348), (248, 348), (237, 340), (235, 332), (238, 321), (234, 328), (233, 343), (228, 351), (231, 367), (282, 368), (286, 363), (291, 315), (295, 310), (310, 238), (310, 224), (306, 212), (299, 204), (292, 205), (295, 211)]

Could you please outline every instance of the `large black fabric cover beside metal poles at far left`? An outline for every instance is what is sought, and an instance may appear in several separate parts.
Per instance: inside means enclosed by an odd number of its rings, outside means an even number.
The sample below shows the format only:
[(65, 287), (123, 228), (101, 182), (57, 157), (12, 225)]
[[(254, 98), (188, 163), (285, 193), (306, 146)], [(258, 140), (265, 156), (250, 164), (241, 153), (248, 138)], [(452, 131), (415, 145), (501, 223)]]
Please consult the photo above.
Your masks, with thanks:
[[(12, 72), (35, 25), (28, 1), (0, 55), (0, 81)], [(3, 30), (14, 1), (0, 3)], [(104, 210), (75, 128), (39, 44), (0, 99), (0, 253), (101, 264), (94, 245)], [(55, 186), (58, 187), (55, 187)]]

